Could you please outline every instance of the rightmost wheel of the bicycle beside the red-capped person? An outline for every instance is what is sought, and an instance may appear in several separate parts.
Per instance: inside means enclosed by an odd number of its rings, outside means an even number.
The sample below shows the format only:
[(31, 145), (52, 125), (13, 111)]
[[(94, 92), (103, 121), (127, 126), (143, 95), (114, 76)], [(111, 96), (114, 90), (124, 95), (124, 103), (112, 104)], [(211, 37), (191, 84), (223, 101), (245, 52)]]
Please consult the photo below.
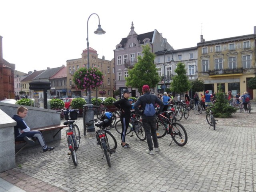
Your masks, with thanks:
[(174, 122), (170, 124), (170, 135), (179, 146), (184, 146), (188, 142), (188, 135), (182, 124)]

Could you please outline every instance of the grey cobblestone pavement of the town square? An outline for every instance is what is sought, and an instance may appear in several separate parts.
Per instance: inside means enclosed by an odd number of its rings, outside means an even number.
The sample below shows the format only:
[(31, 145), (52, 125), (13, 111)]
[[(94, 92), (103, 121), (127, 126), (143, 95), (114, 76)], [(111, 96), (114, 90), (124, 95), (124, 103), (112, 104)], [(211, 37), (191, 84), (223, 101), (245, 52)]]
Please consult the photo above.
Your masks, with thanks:
[(126, 137), (131, 148), (122, 148), (120, 134), (111, 129), (118, 141), (111, 168), (102, 159), (95, 132), (83, 136), (81, 118), (77, 122), (82, 135), (78, 166), (67, 156), (62, 130), (62, 140), (49, 143), (56, 147), (53, 151), (43, 153), (40, 146), (24, 149), (16, 156), (17, 167), (0, 173), (0, 178), (27, 192), (256, 191), (256, 105), (252, 108), (251, 114), (236, 112), (232, 118), (216, 118), (216, 130), (209, 129), (205, 114), (190, 111), (187, 120), (180, 120), (188, 143), (169, 146), (171, 137), (166, 135), (158, 139), (160, 152), (154, 155), (146, 154), (146, 141), (136, 140), (135, 135)]

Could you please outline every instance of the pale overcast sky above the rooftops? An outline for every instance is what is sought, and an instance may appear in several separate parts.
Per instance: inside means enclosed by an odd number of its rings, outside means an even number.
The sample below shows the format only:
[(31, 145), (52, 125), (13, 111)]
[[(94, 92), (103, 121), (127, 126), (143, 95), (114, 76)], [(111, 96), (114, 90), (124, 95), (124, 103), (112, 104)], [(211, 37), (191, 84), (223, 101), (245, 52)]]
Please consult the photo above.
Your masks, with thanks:
[(66, 65), (90, 47), (98, 58), (114, 58), (117, 44), (130, 32), (158, 30), (174, 49), (206, 41), (253, 34), (256, 1), (238, 0), (0, 0), (3, 58), (26, 72)]

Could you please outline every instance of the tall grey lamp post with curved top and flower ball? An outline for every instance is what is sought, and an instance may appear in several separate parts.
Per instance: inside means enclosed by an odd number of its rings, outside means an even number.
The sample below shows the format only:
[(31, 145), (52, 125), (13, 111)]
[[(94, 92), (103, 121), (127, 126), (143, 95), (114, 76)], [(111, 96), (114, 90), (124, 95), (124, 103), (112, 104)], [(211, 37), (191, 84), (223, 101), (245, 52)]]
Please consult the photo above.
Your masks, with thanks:
[[(89, 17), (88, 17), (88, 20), (87, 20), (87, 68), (90, 68), (90, 58), (89, 58), (89, 37), (88, 37), (88, 22), (89, 22), (89, 19), (92, 15), (97, 15), (96, 13), (92, 13)], [(94, 31), (95, 34), (98, 34), (98, 35), (102, 35), (102, 34), (105, 34), (106, 32), (104, 30), (102, 30), (101, 28), (101, 25), (100, 25), (100, 17), (98, 16), (98, 19), (99, 19), (99, 24), (98, 24), (98, 28), (96, 29), (96, 31)], [(92, 109), (92, 99), (91, 99), (91, 89), (88, 90), (88, 94), (89, 94), (89, 98), (88, 98), (88, 103), (89, 104), (86, 104), (86, 106), (88, 106), (88, 109), (86, 110), (86, 116), (85, 116), (85, 119), (84, 119), (84, 122), (90, 122), (90, 120), (93, 120), (94, 118), (94, 110)], [(84, 123), (85, 124), (85, 123)], [(84, 125), (84, 135), (86, 135), (85, 133), (86, 131), (86, 128), (85, 128), (85, 125)], [(88, 128), (87, 128), (87, 131), (88, 132), (92, 132), (92, 131), (95, 131), (95, 127), (94, 127), (94, 124), (90, 125)]]

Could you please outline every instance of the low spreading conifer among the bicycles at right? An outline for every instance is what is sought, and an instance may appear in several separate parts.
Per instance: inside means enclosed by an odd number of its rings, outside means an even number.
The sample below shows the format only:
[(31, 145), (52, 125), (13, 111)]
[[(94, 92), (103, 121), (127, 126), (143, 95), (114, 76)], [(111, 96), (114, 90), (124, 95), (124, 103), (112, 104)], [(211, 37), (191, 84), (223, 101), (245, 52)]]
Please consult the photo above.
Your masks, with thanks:
[(228, 105), (228, 100), (225, 98), (225, 93), (221, 88), (221, 84), (218, 86), (218, 93), (216, 93), (216, 98), (216, 103), (212, 108), (215, 117), (229, 118), (232, 116), (232, 113), (236, 112), (236, 108)]

